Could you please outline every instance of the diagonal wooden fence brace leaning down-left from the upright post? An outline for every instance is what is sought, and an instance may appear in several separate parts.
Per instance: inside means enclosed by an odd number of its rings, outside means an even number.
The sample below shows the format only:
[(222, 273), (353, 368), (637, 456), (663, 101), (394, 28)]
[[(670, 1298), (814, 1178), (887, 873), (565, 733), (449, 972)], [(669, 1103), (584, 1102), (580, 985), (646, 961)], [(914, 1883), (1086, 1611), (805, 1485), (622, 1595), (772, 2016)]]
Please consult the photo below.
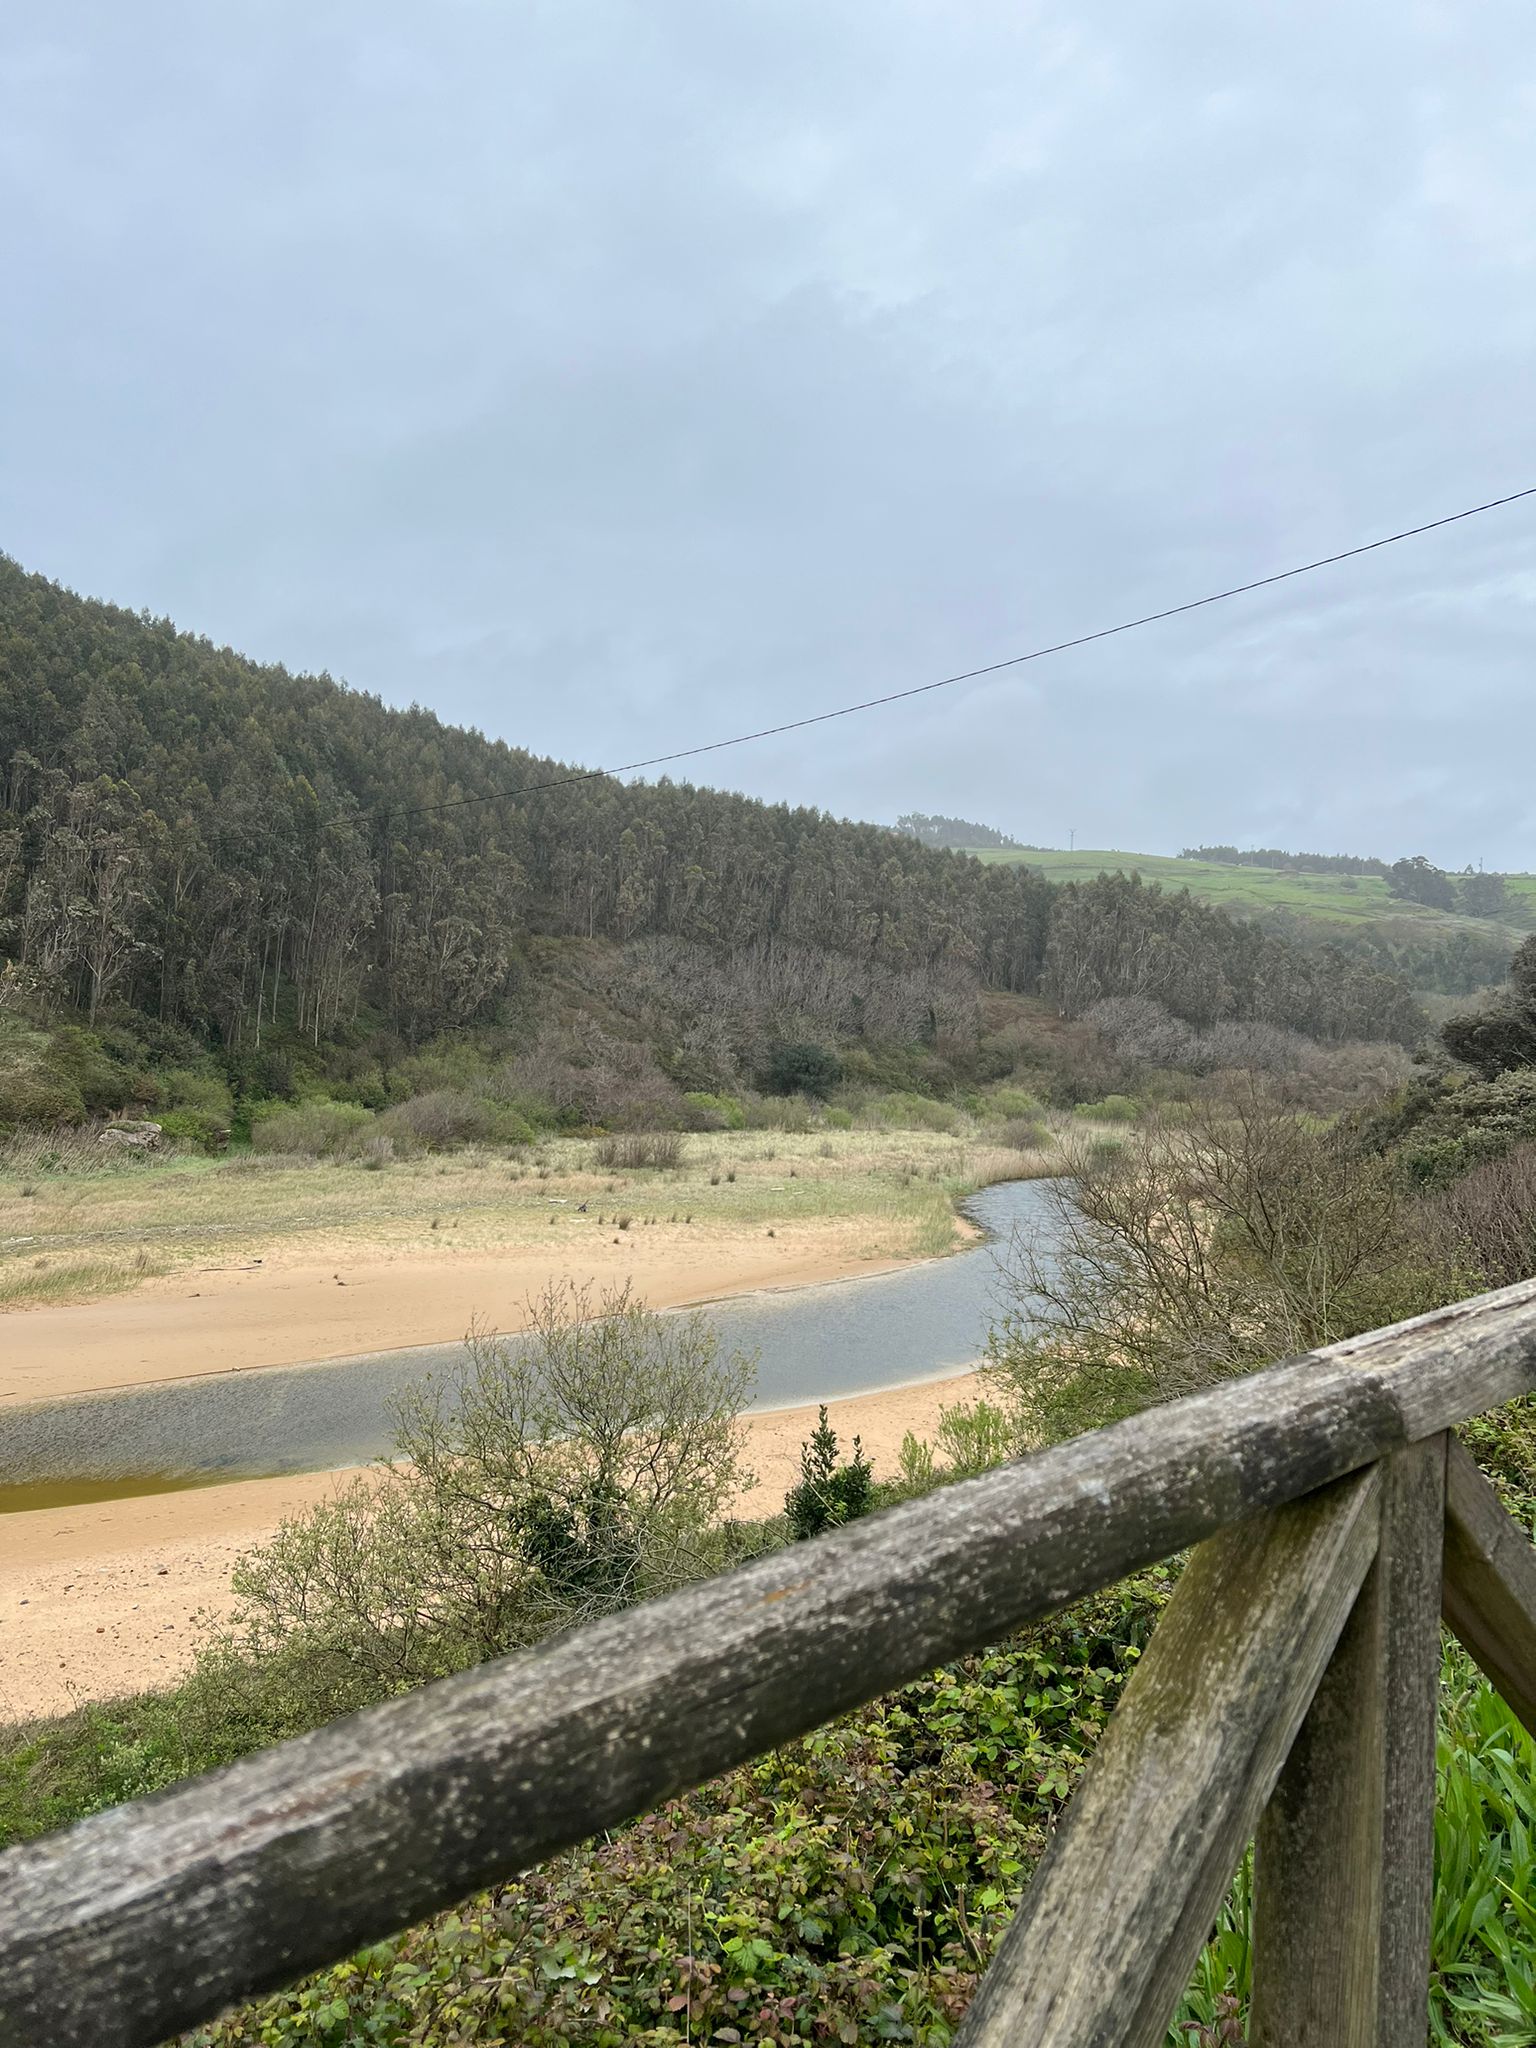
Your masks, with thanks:
[(956, 2048), (1161, 2048), (1376, 1559), (1376, 1470), (1202, 1544)]

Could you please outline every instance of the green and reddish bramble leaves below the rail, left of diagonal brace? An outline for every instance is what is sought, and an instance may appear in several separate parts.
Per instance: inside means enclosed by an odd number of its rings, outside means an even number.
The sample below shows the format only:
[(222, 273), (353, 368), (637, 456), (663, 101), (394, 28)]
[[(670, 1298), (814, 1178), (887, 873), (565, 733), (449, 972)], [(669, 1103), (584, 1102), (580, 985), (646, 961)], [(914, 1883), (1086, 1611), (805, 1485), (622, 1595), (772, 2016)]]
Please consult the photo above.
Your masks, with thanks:
[(190, 2040), (948, 2044), (1163, 1589), (1116, 1587)]

